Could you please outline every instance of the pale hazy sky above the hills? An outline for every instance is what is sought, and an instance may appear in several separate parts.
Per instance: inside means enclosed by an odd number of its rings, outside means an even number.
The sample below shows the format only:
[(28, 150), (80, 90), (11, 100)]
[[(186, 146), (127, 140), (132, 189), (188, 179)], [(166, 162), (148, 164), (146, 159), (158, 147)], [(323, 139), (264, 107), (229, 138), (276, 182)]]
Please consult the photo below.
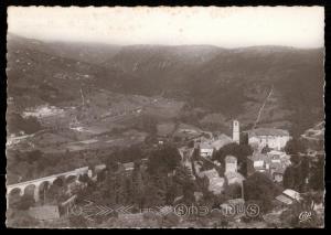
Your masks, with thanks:
[(322, 7), (10, 7), (8, 31), (32, 39), (224, 47), (324, 45)]

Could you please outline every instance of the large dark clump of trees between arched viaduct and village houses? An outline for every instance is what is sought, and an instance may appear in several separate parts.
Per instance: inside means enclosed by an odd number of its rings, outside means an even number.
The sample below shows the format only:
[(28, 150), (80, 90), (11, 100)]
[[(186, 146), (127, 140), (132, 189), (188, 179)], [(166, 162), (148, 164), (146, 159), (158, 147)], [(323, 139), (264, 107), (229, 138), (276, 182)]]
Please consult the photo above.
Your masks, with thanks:
[(181, 157), (173, 146), (162, 146), (149, 156), (137, 149), (136, 156), (148, 158), (147, 163), (135, 161), (131, 172), (126, 172), (117, 157), (109, 157), (104, 181), (89, 184), (82, 194), (106, 205), (134, 205), (141, 210), (151, 206), (172, 205), (175, 197), (194, 200), (195, 184), (190, 171), (180, 164)]

